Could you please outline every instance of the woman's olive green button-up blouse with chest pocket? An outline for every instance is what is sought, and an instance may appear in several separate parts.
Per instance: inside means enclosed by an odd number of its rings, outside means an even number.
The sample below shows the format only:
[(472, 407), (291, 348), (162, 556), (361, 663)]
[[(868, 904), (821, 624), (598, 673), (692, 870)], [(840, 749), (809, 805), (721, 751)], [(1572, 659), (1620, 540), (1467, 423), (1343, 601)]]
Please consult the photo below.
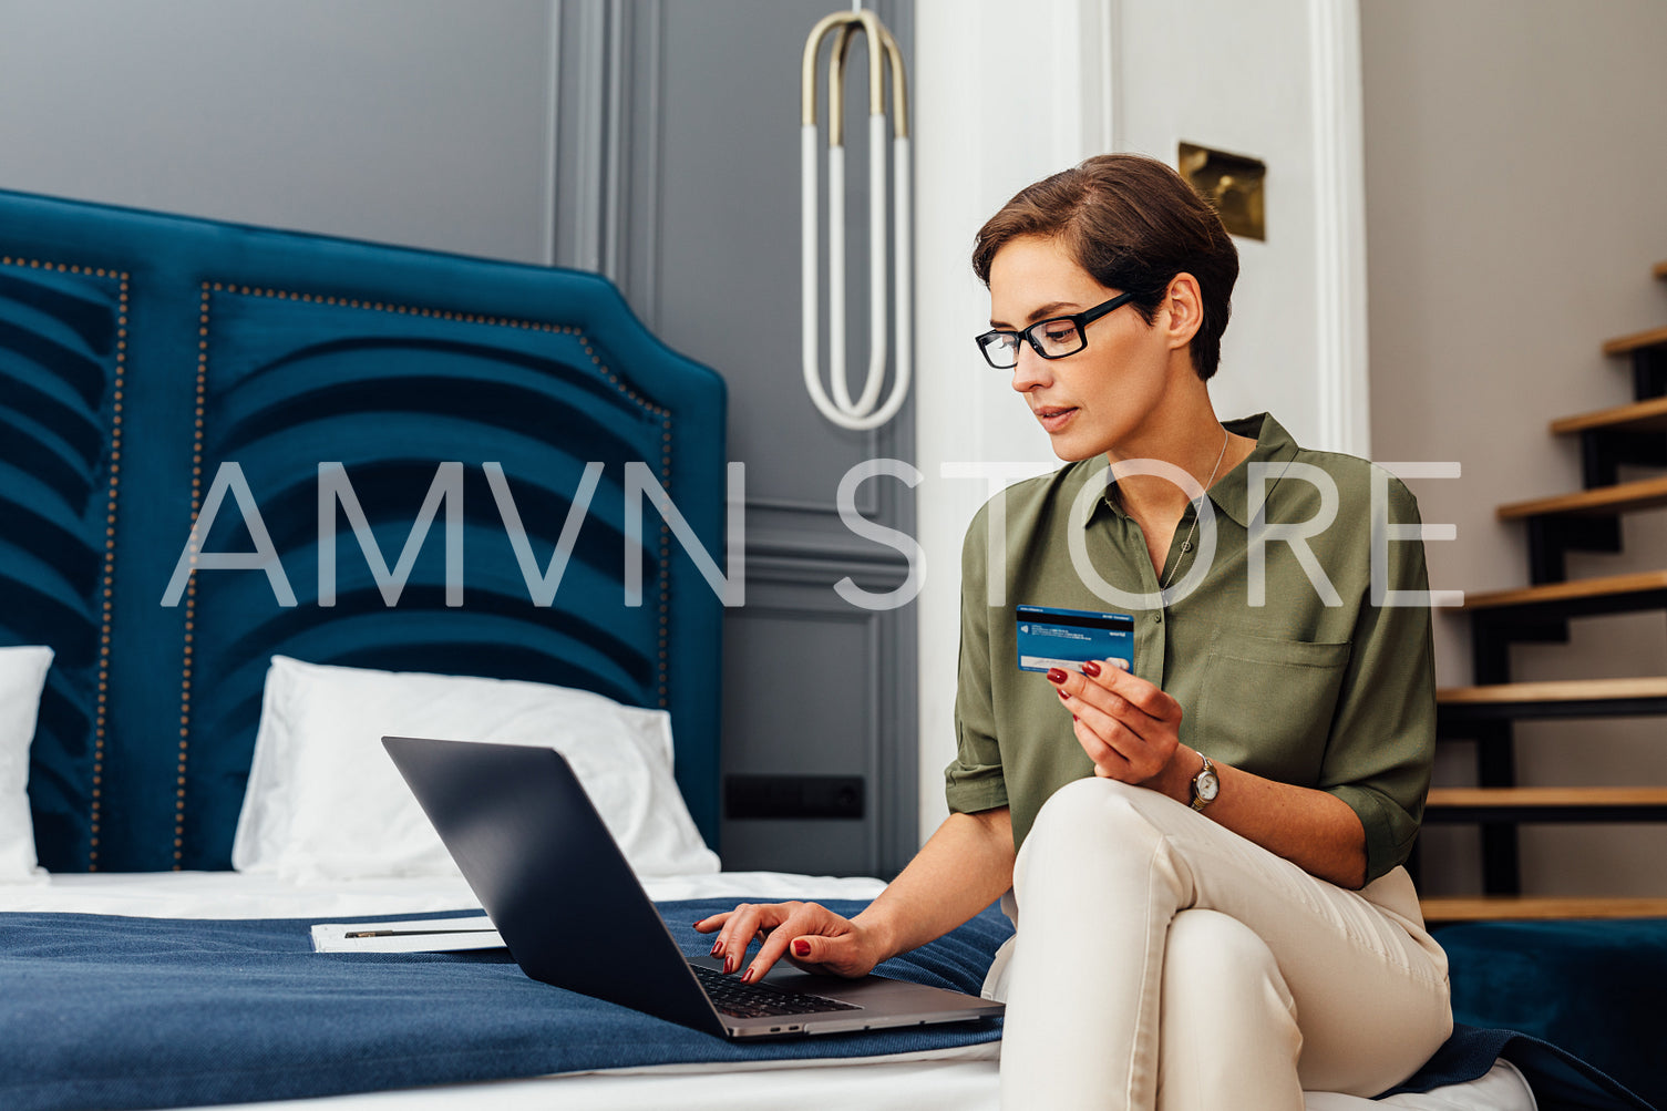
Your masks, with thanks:
[(1054, 684), (1019, 671), (1014, 607), (1127, 612), (1134, 672), (1180, 702), (1182, 744), (1340, 797), (1365, 829), (1370, 882), (1407, 859), (1435, 752), (1424, 545), (1404, 539), (1417, 502), (1380, 467), (1299, 447), (1265, 414), (1227, 427), (1257, 445), (1210, 489), (1192, 544), (1187, 507), (1162, 594), (1104, 455), (1009, 487), (974, 519), (949, 807), (1010, 806), (1017, 847), (1054, 791), (1094, 774)]

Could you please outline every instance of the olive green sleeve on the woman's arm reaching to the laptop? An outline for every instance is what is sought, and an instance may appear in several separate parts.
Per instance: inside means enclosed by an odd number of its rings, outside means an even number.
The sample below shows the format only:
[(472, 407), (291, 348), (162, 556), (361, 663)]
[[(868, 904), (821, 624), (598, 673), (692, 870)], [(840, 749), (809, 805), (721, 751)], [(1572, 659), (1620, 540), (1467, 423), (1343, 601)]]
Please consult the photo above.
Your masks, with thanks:
[(960, 552), (960, 669), (955, 686), (955, 759), (944, 769), (952, 814), (1007, 806), (990, 684), (989, 509), (967, 529)]

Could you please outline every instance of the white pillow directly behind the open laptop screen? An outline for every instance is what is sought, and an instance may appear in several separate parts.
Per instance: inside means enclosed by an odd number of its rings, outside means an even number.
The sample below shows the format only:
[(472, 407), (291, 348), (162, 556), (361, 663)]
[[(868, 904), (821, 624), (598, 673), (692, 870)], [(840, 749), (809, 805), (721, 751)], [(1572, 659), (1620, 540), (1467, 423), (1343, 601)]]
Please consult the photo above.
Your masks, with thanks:
[(672, 777), (665, 711), (542, 682), (273, 656), (232, 866), (297, 882), (457, 876), (382, 737), (553, 747), (640, 876), (718, 871)]

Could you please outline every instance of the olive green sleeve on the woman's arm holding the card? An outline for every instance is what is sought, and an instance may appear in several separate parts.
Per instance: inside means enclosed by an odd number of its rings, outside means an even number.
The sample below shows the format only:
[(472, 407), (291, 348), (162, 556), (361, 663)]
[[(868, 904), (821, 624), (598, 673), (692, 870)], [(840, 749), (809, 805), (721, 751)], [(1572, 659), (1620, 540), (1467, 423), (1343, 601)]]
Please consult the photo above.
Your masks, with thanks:
[[(1417, 500), (1389, 480), (1389, 522), (1419, 522)], [(1365, 587), (1319, 787), (1365, 829), (1367, 882), (1405, 862), (1424, 817), (1435, 759), (1435, 651), (1424, 602), (1420, 540), (1390, 540), (1384, 604)], [(1420, 592), (1395, 599), (1394, 592)]]

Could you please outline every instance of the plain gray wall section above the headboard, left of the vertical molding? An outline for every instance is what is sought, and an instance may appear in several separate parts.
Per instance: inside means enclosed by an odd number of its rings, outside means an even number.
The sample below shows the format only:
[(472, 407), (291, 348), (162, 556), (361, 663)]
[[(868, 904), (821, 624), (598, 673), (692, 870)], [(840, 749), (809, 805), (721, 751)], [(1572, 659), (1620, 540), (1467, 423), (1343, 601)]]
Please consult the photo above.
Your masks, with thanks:
[(540, 262), (545, 0), (0, 0), (0, 185)]

